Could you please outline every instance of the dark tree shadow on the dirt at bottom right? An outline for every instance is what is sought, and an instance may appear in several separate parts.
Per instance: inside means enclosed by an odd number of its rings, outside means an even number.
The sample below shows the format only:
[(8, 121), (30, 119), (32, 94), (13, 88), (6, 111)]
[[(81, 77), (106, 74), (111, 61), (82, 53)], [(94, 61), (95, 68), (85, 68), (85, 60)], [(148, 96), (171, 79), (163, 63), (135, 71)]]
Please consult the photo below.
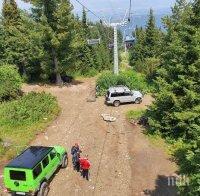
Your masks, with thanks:
[(177, 196), (178, 191), (175, 184), (172, 183), (173, 176), (158, 175), (156, 179), (156, 187), (154, 190), (144, 190), (144, 195), (150, 196)]

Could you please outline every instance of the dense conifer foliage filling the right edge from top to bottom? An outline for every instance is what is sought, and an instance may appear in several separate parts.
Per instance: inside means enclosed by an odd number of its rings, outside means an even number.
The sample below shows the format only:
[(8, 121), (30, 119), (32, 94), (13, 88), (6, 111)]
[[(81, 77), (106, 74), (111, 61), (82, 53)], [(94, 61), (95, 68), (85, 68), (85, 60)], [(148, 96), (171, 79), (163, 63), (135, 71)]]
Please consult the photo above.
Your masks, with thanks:
[(158, 89), (148, 112), (150, 131), (173, 140), (180, 173), (189, 177), (189, 185), (179, 187), (181, 195), (200, 194), (199, 10), (199, 0), (178, 0), (172, 16), (165, 18)]

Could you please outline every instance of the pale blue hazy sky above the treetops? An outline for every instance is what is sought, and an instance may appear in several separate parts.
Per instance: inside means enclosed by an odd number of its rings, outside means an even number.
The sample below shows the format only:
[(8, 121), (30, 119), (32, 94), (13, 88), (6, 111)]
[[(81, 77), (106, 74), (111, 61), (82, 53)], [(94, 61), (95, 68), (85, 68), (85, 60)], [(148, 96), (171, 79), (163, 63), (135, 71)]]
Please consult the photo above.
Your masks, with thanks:
[[(18, 6), (22, 9), (28, 9), (30, 7), (29, 4), (21, 0), (16, 1)], [(2, 2), (3, 0), (0, 0), (0, 9), (2, 8)], [(71, 2), (74, 5), (75, 12), (80, 12), (82, 7), (77, 4), (75, 0), (71, 0)], [(129, 0), (80, 0), (80, 2), (92, 9), (95, 13), (105, 13), (106, 15), (112, 15), (118, 12), (123, 13), (129, 5)], [(169, 9), (174, 2), (175, 0), (132, 0), (132, 10), (136, 13), (141, 10), (148, 10), (149, 8), (159, 11)]]

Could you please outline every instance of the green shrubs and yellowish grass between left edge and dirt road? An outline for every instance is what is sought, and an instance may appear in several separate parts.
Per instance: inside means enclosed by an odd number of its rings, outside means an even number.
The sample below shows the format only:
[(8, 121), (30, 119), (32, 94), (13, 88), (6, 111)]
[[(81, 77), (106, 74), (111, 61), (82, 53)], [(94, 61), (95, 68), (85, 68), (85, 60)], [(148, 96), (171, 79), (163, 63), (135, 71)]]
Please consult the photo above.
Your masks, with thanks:
[(0, 104), (0, 159), (13, 158), (59, 114), (55, 97), (31, 92)]

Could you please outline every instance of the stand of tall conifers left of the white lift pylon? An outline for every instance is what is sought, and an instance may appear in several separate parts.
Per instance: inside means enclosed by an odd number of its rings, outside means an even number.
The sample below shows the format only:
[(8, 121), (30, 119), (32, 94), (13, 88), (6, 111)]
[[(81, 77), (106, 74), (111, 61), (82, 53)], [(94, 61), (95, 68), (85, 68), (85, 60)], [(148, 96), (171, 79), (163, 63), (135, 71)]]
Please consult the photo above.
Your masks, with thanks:
[[(69, 0), (30, 0), (22, 11), (15, 0), (4, 0), (0, 20), (0, 64), (16, 65), (27, 81), (63, 82), (65, 75), (94, 75), (109, 69), (112, 29), (73, 13)], [(100, 44), (88, 45), (88, 39)]]

